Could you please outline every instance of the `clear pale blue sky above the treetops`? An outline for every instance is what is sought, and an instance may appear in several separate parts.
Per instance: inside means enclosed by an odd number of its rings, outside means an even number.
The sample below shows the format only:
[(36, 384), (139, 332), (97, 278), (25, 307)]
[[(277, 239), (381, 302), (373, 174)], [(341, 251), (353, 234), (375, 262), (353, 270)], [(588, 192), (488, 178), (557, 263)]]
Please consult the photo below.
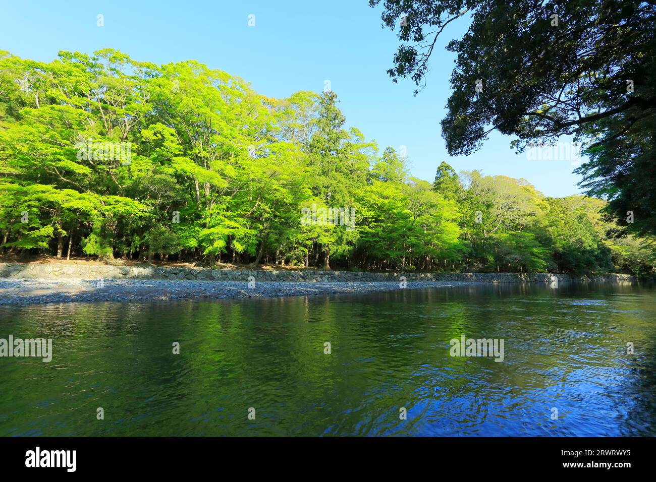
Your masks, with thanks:
[[(440, 121), (450, 95), (453, 54), (444, 46), (460, 37), (468, 18), (452, 22), (431, 58), (426, 88), (392, 83), (396, 35), (381, 28), (380, 9), (367, 0), (331, 1), (4, 1), (0, 50), (50, 61), (59, 50), (92, 53), (119, 49), (136, 60), (167, 64), (194, 59), (283, 98), (298, 90), (321, 92), (324, 81), (340, 98), (348, 125), (375, 139), (380, 151), (406, 146), (411, 173), (432, 180), (447, 161), (456, 171), (525, 178), (546, 195), (578, 193), (570, 161), (529, 160), (493, 134), (469, 156), (449, 157)], [(96, 26), (96, 16), (104, 26)], [(249, 15), (255, 26), (249, 27)]]

